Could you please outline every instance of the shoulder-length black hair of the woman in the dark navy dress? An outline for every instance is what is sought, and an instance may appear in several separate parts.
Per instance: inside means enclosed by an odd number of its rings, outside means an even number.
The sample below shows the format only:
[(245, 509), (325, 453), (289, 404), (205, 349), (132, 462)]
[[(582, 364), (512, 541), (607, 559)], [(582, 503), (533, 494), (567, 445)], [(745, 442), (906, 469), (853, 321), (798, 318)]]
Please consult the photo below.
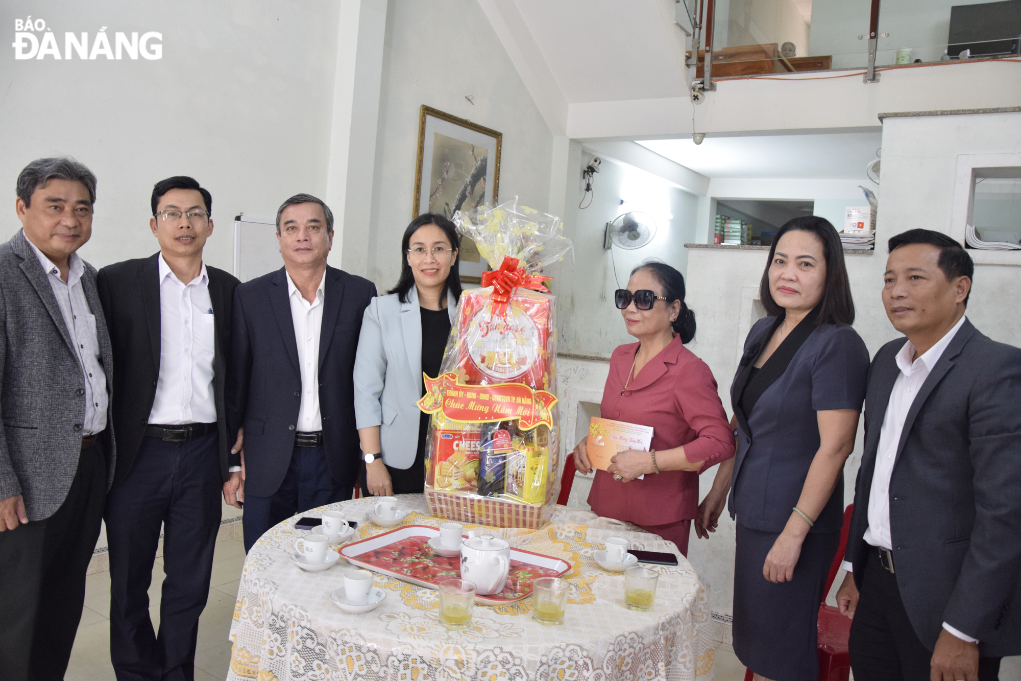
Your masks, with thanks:
[(776, 257), (776, 244), (787, 232), (801, 231), (815, 234), (823, 242), (823, 260), (826, 261), (826, 281), (823, 283), (823, 298), (819, 301), (819, 316), (816, 325), (836, 324), (850, 326), (855, 323), (855, 299), (850, 296), (850, 279), (847, 277), (847, 266), (843, 262), (843, 243), (836, 228), (826, 218), (817, 215), (807, 215), (794, 218), (784, 223), (773, 237), (773, 245), (769, 248), (766, 259), (766, 270), (759, 284), (759, 299), (766, 309), (766, 314), (779, 317), (786, 314), (769, 289), (769, 268)]

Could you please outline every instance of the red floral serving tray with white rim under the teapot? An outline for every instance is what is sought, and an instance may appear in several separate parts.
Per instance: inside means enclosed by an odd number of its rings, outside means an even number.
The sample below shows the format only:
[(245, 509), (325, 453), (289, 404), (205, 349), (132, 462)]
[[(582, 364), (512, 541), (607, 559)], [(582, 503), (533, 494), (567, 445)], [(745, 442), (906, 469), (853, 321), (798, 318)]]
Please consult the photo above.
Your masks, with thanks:
[[(439, 534), (436, 528), (408, 525), (345, 544), (340, 554), (359, 568), (435, 589), (443, 580), (460, 577), (459, 555), (438, 555), (426, 543)], [(510, 573), (503, 590), (488, 596), (477, 595), (476, 600), (490, 605), (521, 600), (532, 593), (535, 580), (560, 577), (570, 570), (567, 560), (512, 547)]]

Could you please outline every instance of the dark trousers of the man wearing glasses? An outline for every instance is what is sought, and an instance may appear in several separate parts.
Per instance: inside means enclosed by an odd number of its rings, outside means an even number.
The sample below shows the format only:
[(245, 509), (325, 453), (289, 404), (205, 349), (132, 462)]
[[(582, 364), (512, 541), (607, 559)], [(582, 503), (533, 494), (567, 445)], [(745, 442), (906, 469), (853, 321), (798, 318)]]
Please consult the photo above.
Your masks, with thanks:
[[(195, 678), (221, 518), (218, 442), (215, 433), (187, 443), (142, 438), (128, 479), (110, 490), (110, 660), (118, 681)], [(148, 591), (160, 528), (166, 576), (156, 634)]]

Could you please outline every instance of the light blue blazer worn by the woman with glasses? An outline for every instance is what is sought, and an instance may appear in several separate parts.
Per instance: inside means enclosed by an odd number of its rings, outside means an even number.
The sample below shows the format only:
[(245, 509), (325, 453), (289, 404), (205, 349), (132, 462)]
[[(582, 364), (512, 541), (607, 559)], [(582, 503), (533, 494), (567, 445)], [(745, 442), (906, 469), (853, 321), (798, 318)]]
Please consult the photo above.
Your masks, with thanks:
[[(457, 300), (447, 292), (450, 324)], [(422, 397), (422, 313), (419, 291), (374, 298), (366, 308), (354, 360), (354, 417), (358, 428), (380, 426), (383, 462), (407, 469), (419, 447)]]

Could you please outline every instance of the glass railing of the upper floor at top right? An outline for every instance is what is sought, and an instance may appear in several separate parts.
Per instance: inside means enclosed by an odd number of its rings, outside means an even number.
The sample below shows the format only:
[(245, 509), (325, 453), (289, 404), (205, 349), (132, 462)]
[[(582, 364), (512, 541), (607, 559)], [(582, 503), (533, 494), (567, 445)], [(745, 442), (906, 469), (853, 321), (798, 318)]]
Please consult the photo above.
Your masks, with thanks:
[[(1019, 56), (1021, 0), (955, 4), (969, 1), (880, 0), (873, 65)], [(867, 69), (872, 10), (872, 0), (682, 0), (677, 14), (700, 29), (695, 78), (708, 49), (717, 80)]]

